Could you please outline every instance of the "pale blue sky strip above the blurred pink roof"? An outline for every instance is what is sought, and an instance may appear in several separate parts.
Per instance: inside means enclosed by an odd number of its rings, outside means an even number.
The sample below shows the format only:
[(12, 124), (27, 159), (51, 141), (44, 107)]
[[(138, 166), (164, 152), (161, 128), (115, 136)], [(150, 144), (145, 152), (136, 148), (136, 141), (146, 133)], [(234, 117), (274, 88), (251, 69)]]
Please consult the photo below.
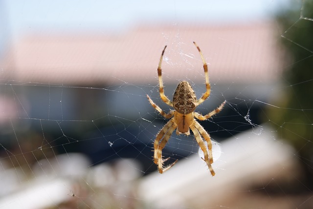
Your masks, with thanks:
[(119, 30), (138, 22), (232, 22), (268, 18), (281, 0), (2, 0), (13, 33)]

